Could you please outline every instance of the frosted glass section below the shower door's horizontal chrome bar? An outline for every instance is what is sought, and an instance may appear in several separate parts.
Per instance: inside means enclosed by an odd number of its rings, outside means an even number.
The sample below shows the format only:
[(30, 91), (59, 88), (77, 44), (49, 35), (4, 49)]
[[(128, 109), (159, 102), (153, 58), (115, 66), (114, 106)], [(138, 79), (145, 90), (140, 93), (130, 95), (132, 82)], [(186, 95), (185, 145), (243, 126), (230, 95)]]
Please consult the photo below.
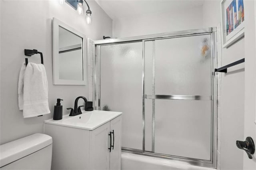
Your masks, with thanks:
[(210, 100), (158, 99), (155, 110), (155, 153), (210, 160)]

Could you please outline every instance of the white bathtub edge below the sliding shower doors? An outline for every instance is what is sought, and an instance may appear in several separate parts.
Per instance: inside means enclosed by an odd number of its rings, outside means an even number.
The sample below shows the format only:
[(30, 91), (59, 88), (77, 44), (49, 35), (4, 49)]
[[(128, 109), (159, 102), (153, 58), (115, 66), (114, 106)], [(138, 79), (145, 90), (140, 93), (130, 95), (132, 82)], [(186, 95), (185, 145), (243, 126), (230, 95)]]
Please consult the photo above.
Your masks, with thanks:
[(185, 162), (122, 152), (122, 170), (216, 170)]

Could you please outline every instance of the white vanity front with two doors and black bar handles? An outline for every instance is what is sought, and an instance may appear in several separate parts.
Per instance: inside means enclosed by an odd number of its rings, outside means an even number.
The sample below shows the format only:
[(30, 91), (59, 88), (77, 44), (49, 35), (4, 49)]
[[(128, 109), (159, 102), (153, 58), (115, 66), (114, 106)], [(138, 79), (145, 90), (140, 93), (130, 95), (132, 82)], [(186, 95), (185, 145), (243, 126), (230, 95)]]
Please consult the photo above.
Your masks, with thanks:
[(121, 121), (118, 116), (90, 131), (90, 170), (121, 170)]

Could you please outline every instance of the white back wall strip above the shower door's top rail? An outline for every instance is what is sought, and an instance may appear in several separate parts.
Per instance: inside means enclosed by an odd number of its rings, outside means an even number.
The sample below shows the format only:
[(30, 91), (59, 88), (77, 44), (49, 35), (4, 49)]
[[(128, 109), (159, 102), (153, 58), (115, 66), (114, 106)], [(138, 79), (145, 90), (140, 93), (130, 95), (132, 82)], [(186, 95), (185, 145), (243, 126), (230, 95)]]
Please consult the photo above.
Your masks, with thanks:
[(196, 6), (170, 12), (114, 19), (113, 38), (200, 29), (202, 26), (202, 6)]

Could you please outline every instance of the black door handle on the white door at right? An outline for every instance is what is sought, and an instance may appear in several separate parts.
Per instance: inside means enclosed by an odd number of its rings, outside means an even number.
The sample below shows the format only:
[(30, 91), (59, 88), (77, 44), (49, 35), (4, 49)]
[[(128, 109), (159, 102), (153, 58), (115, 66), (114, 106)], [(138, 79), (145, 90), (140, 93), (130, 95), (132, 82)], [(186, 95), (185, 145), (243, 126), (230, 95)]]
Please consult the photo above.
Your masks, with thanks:
[(254, 154), (255, 151), (255, 145), (254, 142), (252, 140), (252, 138), (249, 136), (245, 139), (245, 141), (240, 141), (237, 140), (236, 141), (236, 146), (239, 149), (242, 149), (246, 152), (246, 154), (248, 155), (249, 159), (252, 159), (252, 154)]

